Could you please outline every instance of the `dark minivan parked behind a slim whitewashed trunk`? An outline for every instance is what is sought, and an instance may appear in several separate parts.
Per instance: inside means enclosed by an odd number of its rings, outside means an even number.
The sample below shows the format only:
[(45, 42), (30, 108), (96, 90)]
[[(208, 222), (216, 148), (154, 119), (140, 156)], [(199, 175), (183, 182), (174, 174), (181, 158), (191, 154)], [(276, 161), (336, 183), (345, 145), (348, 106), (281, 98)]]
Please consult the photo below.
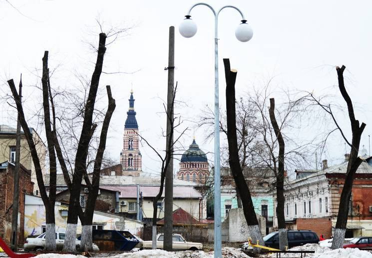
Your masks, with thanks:
[[(288, 248), (307, 243), (318, 243), (318, 235), (311, 230), (288, 230)], [(271, 232), (264, 236), (265, 245), (279, 249), (279, 232)]]

